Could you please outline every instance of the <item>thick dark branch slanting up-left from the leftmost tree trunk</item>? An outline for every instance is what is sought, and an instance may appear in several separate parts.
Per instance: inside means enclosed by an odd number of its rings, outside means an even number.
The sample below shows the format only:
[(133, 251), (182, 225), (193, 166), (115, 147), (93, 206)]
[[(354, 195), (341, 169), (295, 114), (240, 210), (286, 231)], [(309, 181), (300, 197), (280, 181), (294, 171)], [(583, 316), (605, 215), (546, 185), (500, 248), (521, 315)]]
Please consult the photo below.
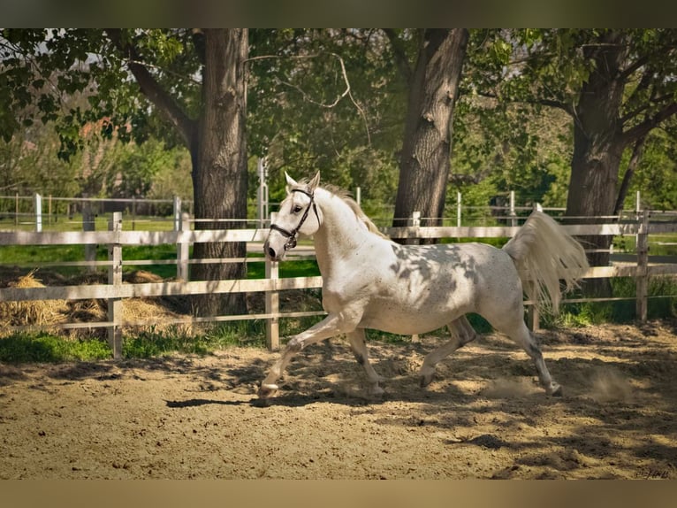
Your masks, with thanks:
[(122, 40), (122, 31), (119, 28), (106, 28), (104, 32), (127, 58), (129, 70), (139, 83), (143, 95), (147, 96), (148, 100), (164, 114), (164, 117), (169, 119), (171, 124), (179, 131), (186, 147), (189, 150), (192, 149), (195, 131), (194, 120), (186, 115), (179, 104), (160, 86), (153, 74), (148, 72), (148, 67), (142, 63), (138, 50), (133, 44)]

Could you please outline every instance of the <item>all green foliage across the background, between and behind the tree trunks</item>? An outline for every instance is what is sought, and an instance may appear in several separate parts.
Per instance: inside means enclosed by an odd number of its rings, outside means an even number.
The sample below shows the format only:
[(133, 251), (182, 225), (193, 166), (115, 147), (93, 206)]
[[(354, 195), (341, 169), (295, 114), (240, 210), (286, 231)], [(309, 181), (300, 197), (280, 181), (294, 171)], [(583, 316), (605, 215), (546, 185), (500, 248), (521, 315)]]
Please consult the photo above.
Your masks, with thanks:
[[(391, 213), (407, 108), (407, 82), (393, 48), (412, 65), (421, 32), (390, 33), (250, 31), (247, 142), (252, 156), (269, 158), (271, 201), (285, 196), (285, 170), (297, 178), (320, 170), (325, 182), (360, 186), (370, 216)], [(448, 211), (456, 190), (474, 206), (509, 190), (520, 204), (566, 204), (571, 112), (582, 83), (595, 72), (590, 53), (608, 33), (470, 31), (453, 124)], [(673, 100), (675, 34), (627, 29), (622, 35), (628, 67), (643, 63), (628, 73), (618, 115), (630, 128)], [(0, 188), (54, 196), (192, 196), (191, 161), (177, 148), (185, 140), (141, 94), (130, 65), (142, 62), (179, 109), (198, 118), (199, 31), (3, 29), (0, 41)], [(132, 58), (120, 50), (129, 42), (138, 52)], [(673, 119), (662, 126), (647, 141), (632, 190), (642, 190), (647, 204), (675, 208)], [(123, 148), (130, 141), (137, 144)], [(255, 183), (255, 164), (249, 177)], [(250, 200), (256, 187), (249, 185)], [(628, 204), (633, 199), (628, 196)]]

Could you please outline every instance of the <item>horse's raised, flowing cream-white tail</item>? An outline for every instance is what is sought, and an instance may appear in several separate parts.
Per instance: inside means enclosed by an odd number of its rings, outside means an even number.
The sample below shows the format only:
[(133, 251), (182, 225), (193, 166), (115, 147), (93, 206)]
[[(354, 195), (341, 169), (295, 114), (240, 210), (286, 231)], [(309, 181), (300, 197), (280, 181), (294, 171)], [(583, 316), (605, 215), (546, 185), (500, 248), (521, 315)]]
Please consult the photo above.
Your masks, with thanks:
[(561, 291), (578, 285), (588, 269), (581, 244), (544, 212), (533, 212), (503, 247), (520, 273), (524, 292), (539, 310), (559, 312)]

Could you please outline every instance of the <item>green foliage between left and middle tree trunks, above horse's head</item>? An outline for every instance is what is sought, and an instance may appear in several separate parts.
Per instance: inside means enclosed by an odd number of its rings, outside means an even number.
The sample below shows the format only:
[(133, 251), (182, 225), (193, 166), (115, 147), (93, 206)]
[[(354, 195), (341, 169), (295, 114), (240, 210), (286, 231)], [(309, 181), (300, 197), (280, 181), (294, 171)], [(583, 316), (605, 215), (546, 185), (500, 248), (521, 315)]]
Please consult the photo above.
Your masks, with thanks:
[(285, 171), (321, 171), (343, 189), (360, 186), (365, 202), (392, 204), (405, 101), (384, 34), (253, 30), (250, 42), (248, 141), (269, 159), (271, 201), (285, 197)]

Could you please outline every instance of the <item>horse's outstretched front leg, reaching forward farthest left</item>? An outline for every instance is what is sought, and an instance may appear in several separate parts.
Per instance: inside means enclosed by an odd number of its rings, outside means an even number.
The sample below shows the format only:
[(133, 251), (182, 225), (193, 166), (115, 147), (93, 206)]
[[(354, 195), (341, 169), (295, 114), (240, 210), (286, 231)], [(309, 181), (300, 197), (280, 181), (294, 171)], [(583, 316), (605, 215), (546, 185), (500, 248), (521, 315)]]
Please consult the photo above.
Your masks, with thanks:
[(278, 390), (278, 379), (285, 372), (286, 366), (289, 365), (296, 353), (310, 344), (319, 343), (334, 335), (345, 333), (348, 331), (346, 326), (349, 327), (349, 325), (346, 325), (345, 316), (331, 313), (316, 325), (309, 327), (308, 330), (299, 335), (293, 335), (278, 361), (273, 364), (270, 372), (262, 381), (259, 396), (262, 398), (269, 397)]

